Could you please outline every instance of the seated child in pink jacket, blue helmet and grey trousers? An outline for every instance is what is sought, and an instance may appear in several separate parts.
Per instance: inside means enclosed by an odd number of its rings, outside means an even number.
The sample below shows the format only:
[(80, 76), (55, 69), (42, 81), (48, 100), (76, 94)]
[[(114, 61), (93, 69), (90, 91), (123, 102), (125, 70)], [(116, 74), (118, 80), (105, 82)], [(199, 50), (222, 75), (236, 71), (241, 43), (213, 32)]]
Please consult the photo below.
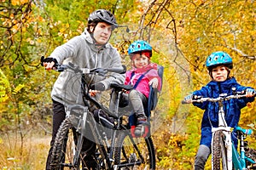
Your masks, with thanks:
[(128, 48), (132, 70), (126, 72), (125, 84), (133, 85), (128, 98), (137, 118), (137, 126), (131, 126), (133, 136), (146, 136), (148, 131), (147, 116), (143, 105), (147, 105), (149, 86), (160, 90), (161, 80), (158, 75), (157, 65), (150, 63), (152, 47), (143, 40), (131, 43)]

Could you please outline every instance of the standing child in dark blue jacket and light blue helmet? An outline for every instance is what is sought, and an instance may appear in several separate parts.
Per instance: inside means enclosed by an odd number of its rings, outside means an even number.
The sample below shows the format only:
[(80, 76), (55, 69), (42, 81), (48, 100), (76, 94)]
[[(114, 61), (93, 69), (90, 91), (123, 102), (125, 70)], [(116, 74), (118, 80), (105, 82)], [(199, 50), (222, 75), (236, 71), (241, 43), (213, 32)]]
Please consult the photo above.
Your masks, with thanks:
[[(224, 52), (212, 53), (207, 58), (207, 69), (212, 81), (201, 90), (193, 92), (185, 98), (191, 103), (194, 96), (218, 98), (219, 94), (232, 94), (232, 88), (237, 92), (245, 92), (245, 99), (230, 99), (224, 104), (225, 119), (229, 127), (236, 127), (241, 114), (241, 108), (248, 102), (253, 102), (254, 89), (243, 87), (236, 82), (235, 77), (230, 77), (233, 68), (232, 59)], [(199, 150), (195, 156), (195, 169), (204, 169), (208, 156), (211, 153), (212, 127), (218, 127), (218, 104), (212, 102), (193, 103), (193, 105), (206, 110), (201, 121), (201, 141)], [(237, 143), (237, 141), (236, 141)]]

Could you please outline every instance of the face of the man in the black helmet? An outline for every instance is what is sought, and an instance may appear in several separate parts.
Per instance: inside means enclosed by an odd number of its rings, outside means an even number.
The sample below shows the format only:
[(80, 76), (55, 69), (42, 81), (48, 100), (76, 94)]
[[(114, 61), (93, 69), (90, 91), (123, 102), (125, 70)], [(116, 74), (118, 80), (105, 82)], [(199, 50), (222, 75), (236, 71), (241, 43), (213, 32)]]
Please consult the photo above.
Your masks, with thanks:
[[(90, 27), (90, 31), (93, 31), (93, 27)], [(96, 40), (96, 44), (103, 45), (108, 42), (112, 33), (112, 26), (105, 22), (99, 22), (94, 31), (93, 37)]]

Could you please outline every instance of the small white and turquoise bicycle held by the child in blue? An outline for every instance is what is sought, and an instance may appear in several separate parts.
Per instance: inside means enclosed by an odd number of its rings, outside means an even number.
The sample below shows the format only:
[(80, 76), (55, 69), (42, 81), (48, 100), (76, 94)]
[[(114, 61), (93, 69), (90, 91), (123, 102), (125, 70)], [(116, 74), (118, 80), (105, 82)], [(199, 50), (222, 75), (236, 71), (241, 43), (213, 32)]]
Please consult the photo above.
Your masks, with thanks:
[[(192, 103), (206, 101), (218, 102), (218, 127), (212, 127), (212, 170), (232, 170), (234, 168), (236, 170), (244, 170), (251, 169), (251, 167), (247, 167), (247, 164), (256, 164), (253, 159), (245, 154), (244, 139), (246, 135), (250, 135), (253, 132), (252, 129), (235, 127), (240, 141), (240, 150), (236, 150), (236, 146), (231, 139), (231, 135), (233, 134), (231, 127), (228, 127), (224, 118), (224, 100), (246, 97), (245, 94), (236, 92), (235, 88), (233, 88), (232, 91), (232, 95), (220, 94), (216, 99), (203, 98), (201, 96), (196, 96), (196, 99), (192, 99)], [(182, 104), (188, 103), (183, 100)]]

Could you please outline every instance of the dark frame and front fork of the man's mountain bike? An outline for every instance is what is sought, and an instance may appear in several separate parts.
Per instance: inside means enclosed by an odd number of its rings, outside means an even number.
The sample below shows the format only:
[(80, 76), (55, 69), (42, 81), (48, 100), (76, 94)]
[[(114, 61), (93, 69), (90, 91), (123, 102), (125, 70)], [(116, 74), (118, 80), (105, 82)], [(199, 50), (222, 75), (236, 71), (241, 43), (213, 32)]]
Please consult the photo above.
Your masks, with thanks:
[[(108, 109), (104, 108), (103, 105), (101, 105), (100, 103), (98, 103), (95, 99), (91, 98), (89, 94), (84, 93), (84, 87), (85, 82), (84, 82), (84, 78), (82, 76), (81, 78), (81, 92), (79, 93), (79, 95), (82, 96), (83, 102), (86, 105), (86, 101), (85, 99), (90, 100), (94, 105), (96, 105), (97, 108), (101, 108), (102, 110), (108, 112)], [(118, 99), (119, 99), (119, 95), (118, 95)], [(79, 110), (82, 111), (80, 113), (74, 111), (74, 110)], [(118, 107), (115, 108), (115, 113), (118, 113)], [(83, 105), (69, 105), (67, 107), (67, 117), (73, 117), (73, 119), (76, 119), (77, 121), (73, 121), (73, 126), (75, 127), (76, 131), (79, 132), (81, 135), (79, 135), (79, 139), (78, 139), (78, 145), (77, 148), (79, 148), (79, 150), (75, 151), (75, 156), (74, 156), (74, 160), (73, 160), (73, 164), (77, 165), (79, 162), (79, 155), (82, 149), (82, 144), (84, 141), (84, 137), (86, 137), (86, 129), (85, 129), (85, 124), (89, 124), (91, 132), (93, 133), (93, 137), (96, 141), (96, 144), (98, 146), (98, 149), (101, 153), (102, 159), (105, 160), (105, 166), (107, 169), (110, 169), (110, 167), (113, 167), (113, 145), (115, 143), (115, 139), (116, 139), (116, 131), (113, 131), (112, 134), (112, 138), (111, 138), (111, 144), (108, 144), (108, 139), (102, 139), (102, 134), (99, 132), (98, 130), (98, 125), (96, 120), (94, 119), (92, 113), (90, 111), (88, 111), (88, 106), (83, 106)], [(117, 118), (117, 124), (116, 124), (116, 129), (125, 129), (124, 126), (121, 125), (120, 123), (120, 116), (119, 117), (115, 117)], [(103, 141), (104, 140), (104, 141)], [(104, 142), (107, 146), (107, 150), (104, 147)]]

